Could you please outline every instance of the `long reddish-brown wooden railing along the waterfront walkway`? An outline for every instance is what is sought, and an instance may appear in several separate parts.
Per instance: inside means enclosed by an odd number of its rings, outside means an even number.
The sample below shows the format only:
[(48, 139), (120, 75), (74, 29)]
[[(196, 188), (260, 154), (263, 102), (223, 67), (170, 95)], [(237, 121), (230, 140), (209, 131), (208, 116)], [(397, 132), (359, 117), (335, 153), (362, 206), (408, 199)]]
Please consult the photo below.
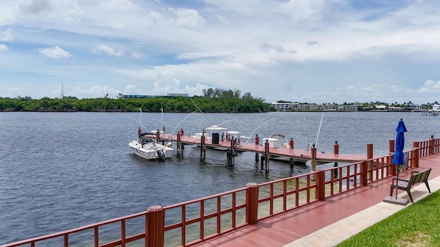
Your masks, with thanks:
[[(428, 142), (432, 143), (429, 148), (424, 148), (425, 142), (417, 143), (423, 151), (414, 148), (405, 152), (408, 163), (405, 169), (419, 166), (424, 149), (436, 150), (432, 148), (436, 141)], [(128, 243), (131, 246), (135, 243), (140, 246), (192, 246), (267, 217), (395, 176), (392, 160), (393, 154), (389, 154), (260, 185), (248, 183), (241, 189), (167, 207), (154, 205), (141, 213), (0, 247), (34, 247), (36, 243), (66, 247), (124, 247)], [(114, 234), (115, 231), (119, 233)]]

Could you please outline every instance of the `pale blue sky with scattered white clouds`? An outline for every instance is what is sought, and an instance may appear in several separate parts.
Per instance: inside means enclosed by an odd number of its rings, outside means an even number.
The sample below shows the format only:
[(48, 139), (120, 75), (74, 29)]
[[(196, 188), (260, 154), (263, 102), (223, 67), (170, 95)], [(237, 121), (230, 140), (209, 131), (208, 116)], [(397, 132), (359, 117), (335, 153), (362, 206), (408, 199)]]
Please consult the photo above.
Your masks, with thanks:
[(437, 0), (2, 0), (0, 97), (440, 101)]

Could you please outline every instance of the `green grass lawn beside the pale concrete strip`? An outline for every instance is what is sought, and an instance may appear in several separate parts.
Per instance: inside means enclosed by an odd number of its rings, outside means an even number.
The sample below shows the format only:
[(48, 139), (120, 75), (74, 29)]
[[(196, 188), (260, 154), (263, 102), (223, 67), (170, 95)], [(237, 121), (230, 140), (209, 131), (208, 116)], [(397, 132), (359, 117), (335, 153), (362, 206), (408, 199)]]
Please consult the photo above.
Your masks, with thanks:
[(344, 246), (440, 246), (440, 191), (338, 245)]

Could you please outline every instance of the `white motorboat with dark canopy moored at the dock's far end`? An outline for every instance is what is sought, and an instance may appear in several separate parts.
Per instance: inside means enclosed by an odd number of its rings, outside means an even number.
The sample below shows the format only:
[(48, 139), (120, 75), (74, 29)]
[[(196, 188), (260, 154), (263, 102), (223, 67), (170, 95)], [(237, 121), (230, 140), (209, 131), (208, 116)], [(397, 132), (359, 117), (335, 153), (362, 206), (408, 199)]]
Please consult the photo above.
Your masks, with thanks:
[(134, 154), (147, 160), (171, 158), (174, 149), (171, 148), (172, 143), (168, 142), (166, 145), (157, 143), (155, 133), (139, 134), (139, 139), (133, 140), (129, 146), (133, 148)]

